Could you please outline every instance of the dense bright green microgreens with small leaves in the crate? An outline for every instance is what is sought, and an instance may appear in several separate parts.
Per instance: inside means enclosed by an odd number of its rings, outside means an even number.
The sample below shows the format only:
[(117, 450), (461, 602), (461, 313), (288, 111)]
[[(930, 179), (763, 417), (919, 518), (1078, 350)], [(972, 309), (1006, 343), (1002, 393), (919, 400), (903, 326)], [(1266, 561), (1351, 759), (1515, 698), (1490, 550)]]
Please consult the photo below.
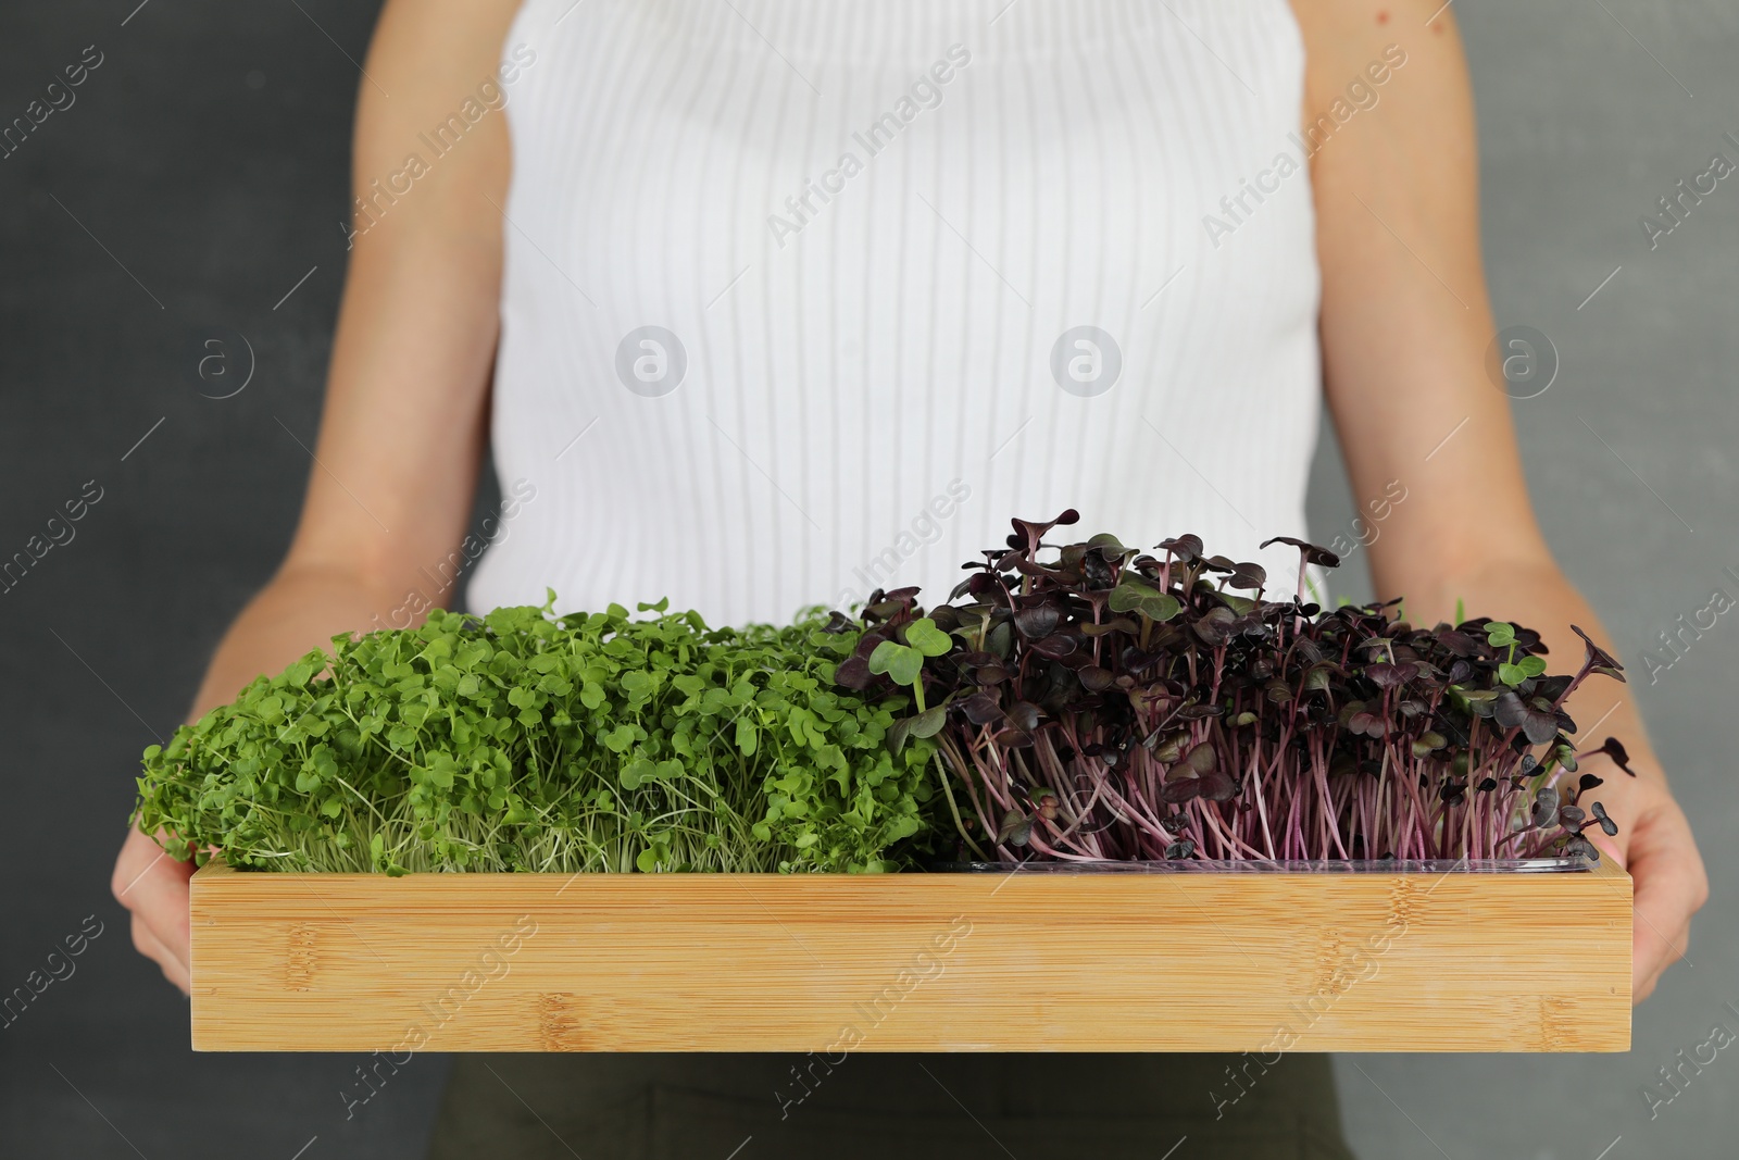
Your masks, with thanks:
[(664, 602), (551, 605), (334, 637), (146, 750), (137, 824), (177, 857), (303, 871), (880, 871), (925, 852), (932, 746), (887, 744), (904, 694), (833, 682), (849, 645), (819, 610), (715, 630)]

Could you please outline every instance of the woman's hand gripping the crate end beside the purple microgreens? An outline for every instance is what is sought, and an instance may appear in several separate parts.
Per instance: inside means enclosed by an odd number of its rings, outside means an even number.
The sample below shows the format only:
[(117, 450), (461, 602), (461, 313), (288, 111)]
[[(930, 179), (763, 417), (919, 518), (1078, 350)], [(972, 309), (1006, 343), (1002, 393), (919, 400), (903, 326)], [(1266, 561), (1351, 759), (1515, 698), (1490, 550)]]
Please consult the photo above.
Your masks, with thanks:
[[(1635, 762), (1631, 763), (1635, 767)], [(1593, 762), (1582, 762), (1588, 770)], [(1598, 776), (1603, 786), (1591, 790), (1584, 802), (1600, 802), (1617, 823), (1609, 838), (1598, 830), (1589, 838), (1602, 854), (1617, 859), (1629, 871), (1636, 890), (1636, 915), (1631, 923), (1631, 1002), (1640, 1003), (1690, 943), (1690, 917), (1709, 897), (1709, 877), (1697, 854), (1685, 810), (1678, 809), (1666, 779), (1650, 769), (1638, 769), (1633, 779), (1605, 758)]]

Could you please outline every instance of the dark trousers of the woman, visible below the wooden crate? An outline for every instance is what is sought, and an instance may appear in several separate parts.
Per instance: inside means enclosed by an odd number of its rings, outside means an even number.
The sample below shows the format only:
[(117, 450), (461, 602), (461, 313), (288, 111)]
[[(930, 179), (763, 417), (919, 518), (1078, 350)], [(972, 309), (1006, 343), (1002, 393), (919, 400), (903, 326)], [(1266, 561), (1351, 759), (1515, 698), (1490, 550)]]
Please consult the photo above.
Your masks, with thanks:
[(456, 1056), (430, 1155), (1353, 1160), (1304, 1054)]

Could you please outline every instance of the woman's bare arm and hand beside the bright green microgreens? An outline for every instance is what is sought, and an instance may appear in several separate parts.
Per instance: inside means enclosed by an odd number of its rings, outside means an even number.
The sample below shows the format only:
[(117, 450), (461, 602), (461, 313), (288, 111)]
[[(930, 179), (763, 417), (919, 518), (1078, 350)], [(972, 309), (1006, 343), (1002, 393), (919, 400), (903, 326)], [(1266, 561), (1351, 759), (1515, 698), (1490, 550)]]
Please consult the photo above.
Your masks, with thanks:
[[(356, 108), (353, 191), (376, 195), (421, 153), (428, 172), (377, 202), (355, 238), (308, 497), (277, 576), (212, 657), (193, 717), (343, 631), (388, 616), (464, 536), (497, 332), (506, 122), (483, 115), (447, 155), (417, 134), (496, 78), (516, 2), (390, 0)], [(391, 94), (391, 96), (386, 96)], [(403, 188), (403, 183), (400, 183)], [(358, 223), (365, 224), (365, 223)], [(188, 988), (188, 878), (129, 831), (113, 890), (134, 944)]]

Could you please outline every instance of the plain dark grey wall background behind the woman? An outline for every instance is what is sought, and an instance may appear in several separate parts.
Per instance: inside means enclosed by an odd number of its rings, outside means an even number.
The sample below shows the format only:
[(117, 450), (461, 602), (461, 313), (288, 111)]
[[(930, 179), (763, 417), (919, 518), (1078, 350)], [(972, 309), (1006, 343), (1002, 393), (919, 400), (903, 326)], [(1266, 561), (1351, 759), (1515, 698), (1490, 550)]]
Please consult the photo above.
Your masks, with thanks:
[[(416, 1157), (440, 1059), (417, 1059), (346, 1122), (337, 1092), (356, 1059), (195, 1056), (184, 1000), (134, 955), (108, 894), (139, 748), (181, 718), (296, 517), (310, 466), (297, 440), (313, 438), (344, 264), (346, 54), (360, 59), (374, 17), (337, 0), (153, 0), (129, 19), (136, 2), (0, 12), (0, 120), (85, 45), (106, 56), (77, 104), (0, 162), (0, 555), (85, 480), (104, 489), (77, 539), (0, 597), (12, 803), (0, 990), (85, 915), (104, 923), (77, 974), (0, 1030), (0, 1153), (289, 1158), (318, 1136), (310, 1160)], [(1367, 1160), (1730, 1155), (1732, 1050), (1654, 1122), (1640, 1089), (1715, 1023), (1739, 1031), (1722, 1007), (1739, 1003), (1739, 901), (1723, 889), (1739, 837), (1723, 675), (1739, 628), (1723, 619), (1652, 687), (1638, 661), (1716, 584), (1739, 591), (1722, 576), (1739, 567), (1739, 186), (1723, 181), (1654, 252), (1638, 216), (1711, 153), (1739, 160), (1722, 139), (1739, 136), (1739, 12), (1709, 0), (1454, 10), (1480, 104), (1499, 323), (1537, 327), (1562, 357), (1553, 388), (1515, 409), (1529, 478), (1553, 548), (1633, 661), (1715, 899), (1694, 965), (1638, 1010), (1631, 1054), (1341, 1057), (1343, 1104)], [(235, 398), (186, 381), (200, 325), (252, 343), (257, 370)], [(1351, 517), (1325, 440), (1315, 537)], [(1360, 569), (1355, 555), (1339, 591), (1362, 595)]]

